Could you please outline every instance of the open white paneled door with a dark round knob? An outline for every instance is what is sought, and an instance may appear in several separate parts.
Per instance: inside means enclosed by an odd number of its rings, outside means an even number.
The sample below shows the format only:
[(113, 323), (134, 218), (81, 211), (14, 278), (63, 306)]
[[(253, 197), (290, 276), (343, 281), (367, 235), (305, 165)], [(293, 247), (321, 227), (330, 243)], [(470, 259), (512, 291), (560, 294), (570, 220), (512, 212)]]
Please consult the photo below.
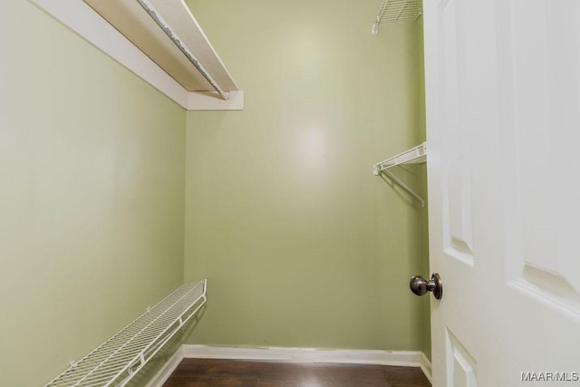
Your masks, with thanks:
[(580, 1), (424, 1), (435, 387), (580, 385)]

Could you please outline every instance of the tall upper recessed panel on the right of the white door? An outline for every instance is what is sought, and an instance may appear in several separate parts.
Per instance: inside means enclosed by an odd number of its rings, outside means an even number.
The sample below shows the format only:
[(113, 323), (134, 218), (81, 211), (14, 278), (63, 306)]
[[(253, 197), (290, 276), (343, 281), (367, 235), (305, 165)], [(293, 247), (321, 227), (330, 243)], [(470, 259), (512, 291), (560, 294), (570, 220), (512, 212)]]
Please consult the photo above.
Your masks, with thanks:
[[(538, 302), (580, 314), (580, 261), (569, 255), (580, 217), (580, 180), (571, 168), (580, 140), (580, 6), (532, 3), (511, 2), (507, 39), (498, 43), (513, 80), (504, 86), (513, 132), (504, 159), (517, 178), (506, 179), (514, 197), (507, 200), (516, 203), (507, 225), (519, 234), (510, 241), (507, 276)], [(525, 5), (526, 15), (514, 12)]]

